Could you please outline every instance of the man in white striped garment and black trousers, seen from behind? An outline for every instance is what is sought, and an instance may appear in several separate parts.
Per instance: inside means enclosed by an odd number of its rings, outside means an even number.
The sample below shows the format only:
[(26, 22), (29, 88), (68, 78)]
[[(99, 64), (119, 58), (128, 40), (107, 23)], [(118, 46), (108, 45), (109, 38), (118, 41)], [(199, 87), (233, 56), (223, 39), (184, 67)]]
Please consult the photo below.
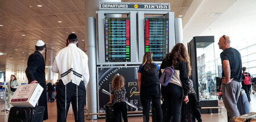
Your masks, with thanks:
[(84, 122), (86, 86), (89, 82), (88, 56), (77, 47), (77, 36), (71, 33), (67, 47), (57, 52), (52, 71), (59, 73), (56, 85), (57, 122), (67, 119), (69, 104), (76, 122)]

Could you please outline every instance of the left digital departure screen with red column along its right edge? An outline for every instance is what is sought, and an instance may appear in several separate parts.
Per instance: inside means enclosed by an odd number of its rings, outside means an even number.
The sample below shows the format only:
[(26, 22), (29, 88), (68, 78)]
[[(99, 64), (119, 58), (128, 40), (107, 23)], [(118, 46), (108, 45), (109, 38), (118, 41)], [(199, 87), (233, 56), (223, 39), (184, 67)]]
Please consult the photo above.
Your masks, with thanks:
[(129, 18), (105, 18), (105, 61), (130, 61)]

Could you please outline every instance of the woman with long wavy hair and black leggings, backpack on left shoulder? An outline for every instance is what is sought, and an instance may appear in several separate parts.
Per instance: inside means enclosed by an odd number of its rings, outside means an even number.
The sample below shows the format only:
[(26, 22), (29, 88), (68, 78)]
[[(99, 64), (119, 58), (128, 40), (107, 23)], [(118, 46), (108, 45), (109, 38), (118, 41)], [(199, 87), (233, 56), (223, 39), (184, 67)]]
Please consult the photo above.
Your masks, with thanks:
[(185, 103), (188, 103), (188, 77), (191, 75), (191, 66), (187, 49), (182, 43), (178, 43), (163, 60), (159, 77), (168, 66), (174, 66), (174, 75), (167, 86), (162, 86), (162, 96), (167, 104), (167, 112), (163, 121), (180, 121), (180, 110), (183, 92)]

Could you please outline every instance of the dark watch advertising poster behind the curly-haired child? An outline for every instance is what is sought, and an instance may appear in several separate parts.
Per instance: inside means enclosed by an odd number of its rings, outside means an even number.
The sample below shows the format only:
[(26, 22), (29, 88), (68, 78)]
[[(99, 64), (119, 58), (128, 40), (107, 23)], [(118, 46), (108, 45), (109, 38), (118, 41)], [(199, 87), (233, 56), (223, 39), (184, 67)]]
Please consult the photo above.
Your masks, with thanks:
[(109, 102), (111, 82), (115, 74), (125, 78), (126, 103), (128, 111), (142, 111), (138, 89), (138, 67), (98, 68), (98, 112), (105, 112)]

